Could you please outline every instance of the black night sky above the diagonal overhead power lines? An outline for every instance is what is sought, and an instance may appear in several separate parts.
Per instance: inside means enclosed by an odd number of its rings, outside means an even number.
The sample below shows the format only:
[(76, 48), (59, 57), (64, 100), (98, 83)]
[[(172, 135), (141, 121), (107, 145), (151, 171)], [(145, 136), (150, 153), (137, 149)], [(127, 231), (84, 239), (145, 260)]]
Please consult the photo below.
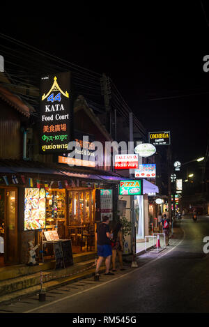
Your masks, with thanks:
[(13, 16), (5, 18), (7, 24), (1, 24), (1, 33), (107, 73), (148, 131), (171, 130), (173, 158), (185, 162), (205, 155), (206, 0), (105, 1), (91, 2), (91, 7), (87, 2), (77, 8), (70, 3), (68, 9), (64, 3), (52, 8), (39, 4), (24, 13), (19, 7), (18, 15), (13, 8)]

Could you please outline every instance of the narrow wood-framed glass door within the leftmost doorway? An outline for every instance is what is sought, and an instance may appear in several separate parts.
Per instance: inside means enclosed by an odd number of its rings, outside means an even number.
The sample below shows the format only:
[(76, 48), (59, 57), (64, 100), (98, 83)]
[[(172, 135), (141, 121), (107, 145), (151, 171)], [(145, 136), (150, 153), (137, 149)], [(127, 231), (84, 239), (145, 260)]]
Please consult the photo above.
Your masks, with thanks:
[(17, 190), (5, 190), (5, 263), (17, 263)]

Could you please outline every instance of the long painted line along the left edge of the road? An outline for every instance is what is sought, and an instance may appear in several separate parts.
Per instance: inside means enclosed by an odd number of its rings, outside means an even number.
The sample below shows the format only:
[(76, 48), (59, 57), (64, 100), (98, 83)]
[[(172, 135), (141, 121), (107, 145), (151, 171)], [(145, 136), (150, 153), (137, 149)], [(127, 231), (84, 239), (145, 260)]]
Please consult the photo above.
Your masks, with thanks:
[(176, 249), (176, 247), (177, 247), (178, 245), (180, 245), (180, 243), (183, 242), (183, 240), (184, 240), (184, 238), (185, 238), (185, 231), (184, 231), (184, 229), (183, 229), (183, 232), (184, 232), (184, 236), (183, 236), (182, 240), (180, 240), (180, 241), (178, 242), (178, 244), (176, 244), (173, 248), (171, 248), (171, 250), (165, 252), (164, 254), (161, 254), (160, 257), (157, 257), (157, 258), (155, 258), (155, 259), (149, 261), (148, 264), (144, 264), (144, 266), (141, 266), (141, 267), (135, 268), (133, 271), (130, 271), (129, 273), (125, 273), (125, 274), (123, 274), (123, 275), (121, 275), (121, 276), (118, 276), (117, 278), (114, 278), (113, 280), (108, 280), (107, 282), (103, 282), (102, 284), (98, 284), (98, 285), (96, 285), (96, 286), (94, 286), (94, 287), (91, 287), (90, 289), (84, 289), (84, 290), (79, 291), (79, 292), (77, 292), (77, 293), (75, 293), (75, 294), (71, 294), (71, 295), (69, 295), (69, 296), (65, 296), (64, 298), (60, 298), (59, 300), (52, 301), (52, 302), (47, 303), (47, 304), (44, 304), (44, 305), (40, 305), (40, 307), (33, 308), (33, 309), (28, 310), (28, 311), (25, 311), (25, 312), (23, 312), (23, 313), (33, 312), (33, 311), (36, 311), (36, 310), (42, 309), (43, 307), (48, 307), (49, 305), (53, 305), (53, 304), (55, 304), (55, 303), (59, 303), (59, 302), (61, 302), (61, 301), (65, 301), (65, 300), (67, 300), (68, 298), (72, 298), (73, 296), (76, 296), (76, 295), (79, 295), (79, 294), (84, 294), (84, 293), (87, 292), (87, 291), (91, 291), (92, 289), (97, 289), (98, 287), (102, 287), (102, 286), (105, 285), (105, 284), (109, 284), (110, 282), (114, 282), (114, 281), (116, 281), (116, 280), (119, 280), (120, 278), (123, 278), (123, 277), (125, 277), (125, 276), (127, 276), (127, 275), (130, 275), (131, 273), (134, 273), (135, 271), (138, 271), (138, 270), (141, 269), (141, 268), (145, 268), (145, 267), (149, 266), (150, 264), (153, 264), (153, 262), (155, 262), (156, 260), (161, 259), (161, 258), (164, 257), (165, 255), (169, 254), (171, 251), (173, 251), (174, 249)]

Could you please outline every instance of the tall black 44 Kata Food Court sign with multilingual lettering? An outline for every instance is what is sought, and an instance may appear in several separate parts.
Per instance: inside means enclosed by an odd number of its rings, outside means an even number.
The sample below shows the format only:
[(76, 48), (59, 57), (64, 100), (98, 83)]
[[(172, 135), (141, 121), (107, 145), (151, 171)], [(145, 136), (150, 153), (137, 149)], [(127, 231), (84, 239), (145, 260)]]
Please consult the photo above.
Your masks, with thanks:
[(42, 77), (40, 97), (40, 153), (63, 153), (72, 119), (70, 72)]

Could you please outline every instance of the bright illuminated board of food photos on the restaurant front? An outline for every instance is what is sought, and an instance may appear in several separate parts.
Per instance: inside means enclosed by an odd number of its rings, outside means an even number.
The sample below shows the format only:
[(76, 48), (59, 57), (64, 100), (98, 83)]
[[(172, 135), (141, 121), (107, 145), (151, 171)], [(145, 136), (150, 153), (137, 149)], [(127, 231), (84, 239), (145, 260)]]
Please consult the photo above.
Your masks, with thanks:
[(45, 189), (24, 189), (24, 230), (45, 228)]

